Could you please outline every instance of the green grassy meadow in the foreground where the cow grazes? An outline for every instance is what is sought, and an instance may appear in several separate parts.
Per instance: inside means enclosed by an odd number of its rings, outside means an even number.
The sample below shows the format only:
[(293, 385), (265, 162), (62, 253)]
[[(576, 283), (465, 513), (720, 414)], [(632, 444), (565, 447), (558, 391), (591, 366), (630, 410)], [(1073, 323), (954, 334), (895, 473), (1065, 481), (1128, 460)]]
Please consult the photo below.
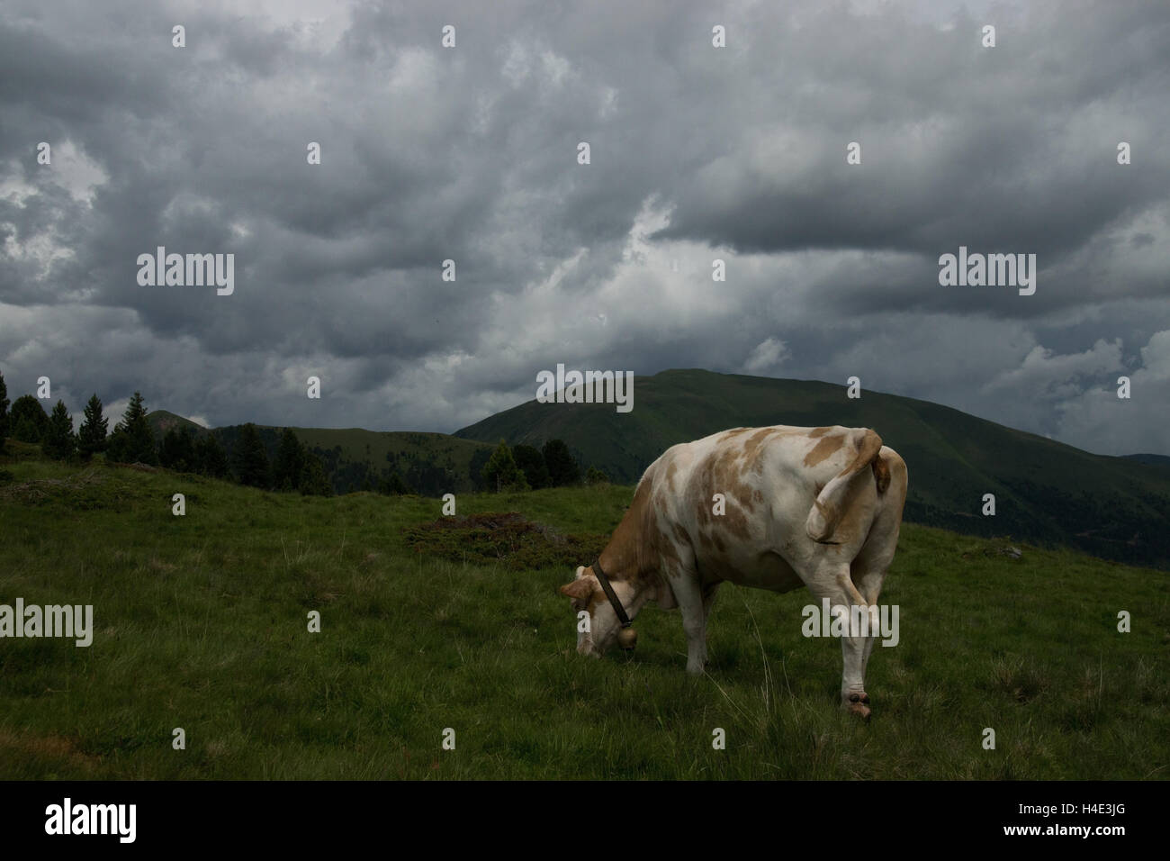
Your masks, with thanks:
[[(472, 528), (418, 545), (404, 529), (435, 520), (436, 500), (263, 493), (13, 447), (0, 603), (91, 603), (96, 633), (88, 649), (0, 640), (0, 778), (1170, 774), (1157, 572), (1027, 545), (1013, 560), (906, 526), (882, 595), (901, 608), (901, 643), (875, 649), (862, 725), (838, 710), (839, 643), (800, 635), (804, 590), (725, 586), (709, 676), (689, 678), (677, 613), (642, 613), (629, 660), (581, 658), (557, 594), (570, 566), (517, 568), (507, 542), (486, 560), (490, 534)], [(186, 517), (171, 513), (176, 492)], [(556, 535), (604, 540), (631, 496), (603, 485), (457, 505), (522, 513), (556, 555)], [(1116, 630), (1122, 609), (1131, 634)], [(727, 750), (713, 750), (715, 727)]]

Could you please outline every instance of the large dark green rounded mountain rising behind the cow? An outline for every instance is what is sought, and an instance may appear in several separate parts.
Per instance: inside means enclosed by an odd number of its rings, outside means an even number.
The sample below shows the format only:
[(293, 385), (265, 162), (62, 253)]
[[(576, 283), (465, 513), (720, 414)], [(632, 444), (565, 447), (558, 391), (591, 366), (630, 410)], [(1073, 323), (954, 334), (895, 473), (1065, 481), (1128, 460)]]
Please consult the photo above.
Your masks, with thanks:
[[(583, 464), (634, 481), (666, 449), (739, 425), (873, 428), (910, 470), (906, 517), (979, 535), (1071, 545), (1106, 559), (1170, 567), (1170, 470), (1103, 457), (965, 412), (896, 395), (704, 370), (634, 381), (634, 409), (539, 404), (456, 432), (483, 442), (564, 439)], [(983, 494), (996, 515), (983, 517)]]

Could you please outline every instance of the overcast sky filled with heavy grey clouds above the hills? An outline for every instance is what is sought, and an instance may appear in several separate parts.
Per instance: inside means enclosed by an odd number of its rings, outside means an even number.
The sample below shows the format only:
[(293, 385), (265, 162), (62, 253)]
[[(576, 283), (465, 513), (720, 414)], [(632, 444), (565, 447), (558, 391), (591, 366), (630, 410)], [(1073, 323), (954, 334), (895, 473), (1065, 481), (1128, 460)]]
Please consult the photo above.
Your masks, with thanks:
[[(1168, 93), (1164, 0), (5, 0), (0, 371), (436, 431), (558, 362), (856, 375), (1170, 455)], [(234, 294), (139, 286), (160, 245)], [(1035, 294), (941, 286), (959, 246)]]

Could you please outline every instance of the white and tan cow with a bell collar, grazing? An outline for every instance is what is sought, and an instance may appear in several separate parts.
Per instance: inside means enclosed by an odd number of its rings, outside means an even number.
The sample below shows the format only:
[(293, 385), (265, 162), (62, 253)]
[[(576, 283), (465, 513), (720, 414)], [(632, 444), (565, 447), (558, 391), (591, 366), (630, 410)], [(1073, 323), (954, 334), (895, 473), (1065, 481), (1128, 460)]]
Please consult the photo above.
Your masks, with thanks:
[[(723, 582), (780, 593), (805, 586), (834, 614), (876, 613), (906, 487), (906, 463), (867, 428), (735, 428), (674, 445), (646, 470), (597, 560), (560, 587), (578, 615), (589, 614), (577, 651), (633, 648), (629, 620), (653, 601), (681, 611), (687, 671), (702, 674)], [(841, 705), (868, 719), (876, 631), (844, 633)]]

